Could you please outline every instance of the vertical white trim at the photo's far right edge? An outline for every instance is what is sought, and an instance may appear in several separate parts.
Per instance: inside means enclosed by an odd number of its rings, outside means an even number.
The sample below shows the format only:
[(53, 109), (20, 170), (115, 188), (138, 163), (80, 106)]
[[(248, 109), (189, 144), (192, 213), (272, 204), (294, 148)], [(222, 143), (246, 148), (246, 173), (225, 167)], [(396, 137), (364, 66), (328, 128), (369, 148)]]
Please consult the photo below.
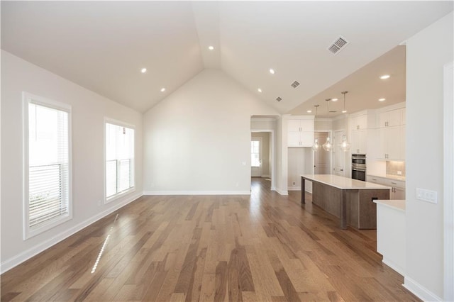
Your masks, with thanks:
[(443, 224), (445, 301), (454, 301), (454, 62), (444, 66), (443, 104)]

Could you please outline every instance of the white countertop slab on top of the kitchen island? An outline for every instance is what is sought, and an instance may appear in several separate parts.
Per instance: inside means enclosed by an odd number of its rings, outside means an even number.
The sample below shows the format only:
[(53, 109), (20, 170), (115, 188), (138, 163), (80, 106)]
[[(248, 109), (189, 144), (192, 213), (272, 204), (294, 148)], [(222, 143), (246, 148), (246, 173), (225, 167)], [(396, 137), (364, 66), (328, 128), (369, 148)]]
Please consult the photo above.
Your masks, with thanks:
[(382, 184), (374, 184), (372, 182), (340, 177), (333, 174), (302, 174), (301, 177), (344, 190), (391, 189), (390, 186), (383, 186)]

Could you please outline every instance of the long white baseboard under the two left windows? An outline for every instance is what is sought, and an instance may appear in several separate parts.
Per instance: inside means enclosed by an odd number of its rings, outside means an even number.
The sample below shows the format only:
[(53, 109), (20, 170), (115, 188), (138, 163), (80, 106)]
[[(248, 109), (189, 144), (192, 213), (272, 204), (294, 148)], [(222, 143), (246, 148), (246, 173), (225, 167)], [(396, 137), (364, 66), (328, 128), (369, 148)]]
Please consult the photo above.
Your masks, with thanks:
[(135, 201), (135, 199), (139, 198), (140, 196), (142, 196), (142, 194), (135, 194), (130, 198), (127, 198), (124, 201), (117, 203), (115, 206), (111, 206), (110, 208), (102, 211), (101, 213), (98, 213), (95, 216), (92, 216), (91, 218), (82, 221), (82, 223), (74, 225), (72, 228), (63, 231), (62, 233), (55, 235), (54, 237), (51, 237), (48, 240), (45, 240), (44, 242), (41, 242), (39, 245), (35, 245), (35, 247), (31, 247), (30, 249), (23, 251), (14, 257), (6, 259), (4, 262), (1, 262), (0, 264), (0, 274), (9, 271), (13, 267), (16, 267), (18, 264), (21, 264), (22, 262), (30, 259), (31, 257), (38, 255), (40, 252), (47, 250), (49, 247), (52, 247), (52, 245), (56, 245), (58, 242), (65, 240), (67, 237), (70, 237), (71, 235), (74, 235), (74, 233), (79, 232), (79, 230), (87, 228), (87, 226), (91, 225), (92, 223), (96, 222), (97, 220), (105, 216), (108, 216), (110, 213), (118, 210), (118, 208), (122, 208), (123, 206), (126, 206), (128, 203)]

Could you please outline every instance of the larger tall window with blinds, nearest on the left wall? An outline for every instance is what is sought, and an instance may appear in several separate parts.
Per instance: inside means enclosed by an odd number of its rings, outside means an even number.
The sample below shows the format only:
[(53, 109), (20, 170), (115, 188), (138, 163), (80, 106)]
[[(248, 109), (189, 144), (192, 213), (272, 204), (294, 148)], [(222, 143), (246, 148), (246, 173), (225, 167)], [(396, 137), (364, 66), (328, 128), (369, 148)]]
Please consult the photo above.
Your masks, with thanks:
[(24, 93), (24, 239), (72, 218), (71, 107)]

